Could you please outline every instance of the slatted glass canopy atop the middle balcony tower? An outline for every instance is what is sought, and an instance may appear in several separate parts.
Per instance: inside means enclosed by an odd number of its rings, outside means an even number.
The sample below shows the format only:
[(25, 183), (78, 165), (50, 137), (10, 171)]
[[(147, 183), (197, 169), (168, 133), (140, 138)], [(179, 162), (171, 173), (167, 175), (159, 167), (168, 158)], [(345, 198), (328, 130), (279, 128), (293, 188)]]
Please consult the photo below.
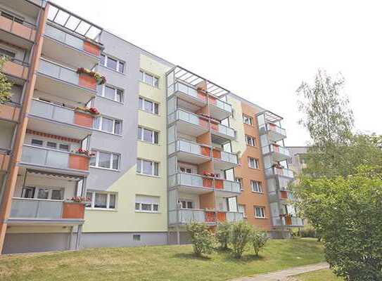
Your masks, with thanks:
[(224, 89), (223, 87), (212, 83), (208, 79), (200, 77), (199, 75), (184, 69), (183, 67), (176, 66), (174, 67), (174, 69), (172, 69), (172, 71), (174, 72), (175, 79), (184, 81), (186, 84), (191, 84), (192, 86), (197, 86), (198, 84), (200, 84), (200, 82), (205, 81), (205, 83), (207, 84), (207, 92), (211, 93), (214, 96), (219, 97), (230, 92), (227, 89)]

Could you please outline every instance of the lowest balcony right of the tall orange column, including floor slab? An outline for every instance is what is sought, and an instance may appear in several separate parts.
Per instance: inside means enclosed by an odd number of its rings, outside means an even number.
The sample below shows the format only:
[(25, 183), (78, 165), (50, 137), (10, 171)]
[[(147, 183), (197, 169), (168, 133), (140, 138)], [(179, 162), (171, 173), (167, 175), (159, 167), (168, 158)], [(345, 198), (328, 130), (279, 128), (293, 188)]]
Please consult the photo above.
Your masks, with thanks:
[(75, 226), (84, 223), (83, 203), (13, 198), (10, 224), (56, 224)]

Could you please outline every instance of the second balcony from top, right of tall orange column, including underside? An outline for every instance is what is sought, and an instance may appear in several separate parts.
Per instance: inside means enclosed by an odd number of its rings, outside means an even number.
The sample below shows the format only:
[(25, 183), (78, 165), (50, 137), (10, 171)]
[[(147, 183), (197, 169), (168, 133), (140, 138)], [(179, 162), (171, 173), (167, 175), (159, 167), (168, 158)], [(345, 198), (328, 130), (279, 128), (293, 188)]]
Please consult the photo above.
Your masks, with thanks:
[(69, 67), (41, 59), (37, 74), (39, 91), (82, 104), (96, 96), (96, 79)]

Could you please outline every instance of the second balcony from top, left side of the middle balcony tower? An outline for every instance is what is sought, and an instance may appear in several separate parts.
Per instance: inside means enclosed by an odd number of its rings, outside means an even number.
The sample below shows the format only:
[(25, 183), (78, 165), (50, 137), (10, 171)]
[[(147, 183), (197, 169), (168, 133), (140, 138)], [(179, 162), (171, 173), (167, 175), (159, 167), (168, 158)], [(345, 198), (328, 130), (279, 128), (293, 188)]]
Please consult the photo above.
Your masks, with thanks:
[(177, 122), (177, 131), (190, 136), (200, 136), (209, 131), (208, 119), (185, 110), (176, 110), (167, 117), (167, 124)]

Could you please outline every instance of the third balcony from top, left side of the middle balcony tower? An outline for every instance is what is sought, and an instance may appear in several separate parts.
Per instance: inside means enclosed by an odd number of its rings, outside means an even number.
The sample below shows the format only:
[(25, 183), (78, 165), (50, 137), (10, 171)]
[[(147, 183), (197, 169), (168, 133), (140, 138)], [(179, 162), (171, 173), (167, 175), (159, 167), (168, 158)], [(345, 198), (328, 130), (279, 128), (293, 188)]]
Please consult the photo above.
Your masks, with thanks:
[(177, 153), (178, 161), (202, 164), (211, 160), (211, 148), (191, 141), (178, 140), (168, 145), (168, 154)]

